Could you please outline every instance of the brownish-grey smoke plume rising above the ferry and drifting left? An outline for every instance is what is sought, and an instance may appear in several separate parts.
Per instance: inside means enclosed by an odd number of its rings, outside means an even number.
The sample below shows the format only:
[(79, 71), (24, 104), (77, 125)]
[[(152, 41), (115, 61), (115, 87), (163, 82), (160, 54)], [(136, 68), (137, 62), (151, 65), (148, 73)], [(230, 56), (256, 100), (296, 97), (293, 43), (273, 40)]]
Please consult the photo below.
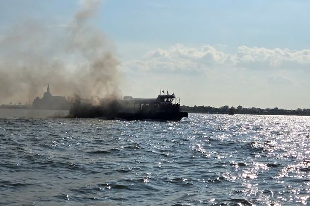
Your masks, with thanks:
[(0, 33), (0, 104), (53, 95), (118, 97), (114, 47), (91, 25), (101, 1), (82, 1), (69, 23), (29, 18)]

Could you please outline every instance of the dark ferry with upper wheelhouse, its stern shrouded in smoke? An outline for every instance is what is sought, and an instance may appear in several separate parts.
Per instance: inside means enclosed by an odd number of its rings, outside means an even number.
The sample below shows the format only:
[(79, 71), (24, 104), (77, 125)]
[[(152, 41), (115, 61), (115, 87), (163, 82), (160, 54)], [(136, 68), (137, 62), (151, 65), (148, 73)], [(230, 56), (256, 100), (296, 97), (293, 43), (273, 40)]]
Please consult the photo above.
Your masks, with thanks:
[(180, 121), (183, 117), (188, 117), (188, 113), (180, 111), (180, 98), (167, 92), (154, 99), (125, 96), (122, 100), (109, 101), (102, 98), (98, 105), (75, 102), (69, 117)]

